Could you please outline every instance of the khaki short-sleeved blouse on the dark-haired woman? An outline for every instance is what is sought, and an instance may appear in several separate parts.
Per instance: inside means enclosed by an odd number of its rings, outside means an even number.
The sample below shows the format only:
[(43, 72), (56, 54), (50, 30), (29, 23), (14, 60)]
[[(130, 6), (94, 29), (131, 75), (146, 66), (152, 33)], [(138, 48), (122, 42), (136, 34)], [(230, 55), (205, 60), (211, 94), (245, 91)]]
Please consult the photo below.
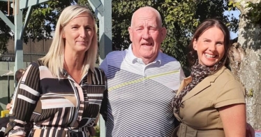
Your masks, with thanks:
[[(177, 94), (191, 82), (185, 78)], [(216, 73), (204, 78), (181, 101), (179, 115), (175, 117), (182, 124), (177, 136), (225, 136), (218, 108), (236, 103), (245, 103), (244, 87), (234, 75), (223, 66)]]

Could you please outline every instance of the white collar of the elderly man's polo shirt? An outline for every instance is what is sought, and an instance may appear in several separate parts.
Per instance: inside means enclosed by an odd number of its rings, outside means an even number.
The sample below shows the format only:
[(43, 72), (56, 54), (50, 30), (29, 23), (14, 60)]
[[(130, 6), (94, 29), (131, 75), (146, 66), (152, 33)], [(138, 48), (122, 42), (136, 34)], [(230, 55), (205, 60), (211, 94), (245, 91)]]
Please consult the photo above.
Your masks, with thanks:
[[(158, 52), (158, 56), (156, 57), (156, 59), (154, 59), (154, 62), (151, 63), (155, 64), (158, 62), (158, 64), (161, 64), (162, 54), (162, 52)], [(135, 64), (136, 62), (142, 62), (142, 59), (135, 57), (135, 55), (133, 54), (132, 44), (130, 44), (130, 46), (128, 47), (128, 57), (133, 64)]]

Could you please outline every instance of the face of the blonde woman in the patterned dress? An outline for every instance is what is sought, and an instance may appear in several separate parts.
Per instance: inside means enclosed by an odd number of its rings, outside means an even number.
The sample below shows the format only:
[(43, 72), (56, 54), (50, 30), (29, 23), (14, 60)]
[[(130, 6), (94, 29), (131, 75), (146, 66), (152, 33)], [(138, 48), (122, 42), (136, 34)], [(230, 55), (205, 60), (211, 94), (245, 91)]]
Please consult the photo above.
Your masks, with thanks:
[(94, 22), (87, 13), (82, 13), (70, 20), (64, 27), (65, 50), (86, 52), (94, 36)]

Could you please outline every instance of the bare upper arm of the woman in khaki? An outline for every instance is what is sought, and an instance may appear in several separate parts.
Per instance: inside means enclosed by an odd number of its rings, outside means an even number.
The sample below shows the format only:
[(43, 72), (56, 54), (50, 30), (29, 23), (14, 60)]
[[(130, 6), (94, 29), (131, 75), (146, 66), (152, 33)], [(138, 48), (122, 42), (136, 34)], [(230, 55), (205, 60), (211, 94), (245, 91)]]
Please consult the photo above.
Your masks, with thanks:
[(246, 104), (218, 108), (226, 137), (246, 137)]

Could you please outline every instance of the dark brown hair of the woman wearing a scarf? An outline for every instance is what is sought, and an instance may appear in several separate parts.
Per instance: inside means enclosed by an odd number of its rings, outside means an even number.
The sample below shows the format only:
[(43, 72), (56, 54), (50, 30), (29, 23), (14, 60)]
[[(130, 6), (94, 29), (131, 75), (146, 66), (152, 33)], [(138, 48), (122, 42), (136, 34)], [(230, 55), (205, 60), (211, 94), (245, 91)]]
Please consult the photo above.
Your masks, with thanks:
[(195, 33), (193, 38), (191, 39), (191, 43), (188, 45), (188, 64), (189, 66), (193, 66), (197, 60), (197, 51), (193, 48), (193, 41), (197, 41), (197, 39), (206, 31), (207, 29), (210, 29), (212, 27), (218, 27), (223, 31), (224, 34), (224, 46), (225, 46), (225, 54), (223, 58), (221, 59), (221, 62), (223, 64), (228, 64), (229, 59), (228, 58), (228, 52), (230, 50), (230, 31), (228, 30), (228, 27), (225, 26), (225, 24), (218, 19), (207, 19), (204, 20), (200, 26), (195, 29)]

